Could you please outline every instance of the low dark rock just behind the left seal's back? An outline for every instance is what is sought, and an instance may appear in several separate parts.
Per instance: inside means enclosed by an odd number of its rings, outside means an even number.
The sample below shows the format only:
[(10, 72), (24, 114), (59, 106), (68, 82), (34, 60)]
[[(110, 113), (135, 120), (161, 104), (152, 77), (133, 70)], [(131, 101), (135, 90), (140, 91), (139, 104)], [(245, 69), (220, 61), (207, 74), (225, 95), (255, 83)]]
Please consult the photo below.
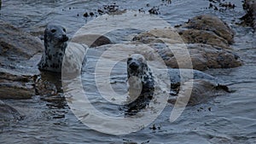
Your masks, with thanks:
[(87, 34), (78, 37), (73, 37), (73, 43), (85, 43), (90, 48), (95, 48), (104, 44), (112, 43), (108, 37), (96, 35), (96, 34)]

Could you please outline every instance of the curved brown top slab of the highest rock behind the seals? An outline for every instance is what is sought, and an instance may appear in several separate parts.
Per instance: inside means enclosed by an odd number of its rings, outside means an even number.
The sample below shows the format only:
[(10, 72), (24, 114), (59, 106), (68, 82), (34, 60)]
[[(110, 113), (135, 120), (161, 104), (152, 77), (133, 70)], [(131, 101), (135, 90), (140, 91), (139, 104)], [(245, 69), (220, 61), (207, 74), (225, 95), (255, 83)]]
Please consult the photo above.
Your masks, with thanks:
[(228, 43), (234, 43), (233, 38), (235, 32), (215, 15), (205, 14), (195, 16), (185, 23), (182, 28), (214, 32), (218, 37), (223, 37)]

